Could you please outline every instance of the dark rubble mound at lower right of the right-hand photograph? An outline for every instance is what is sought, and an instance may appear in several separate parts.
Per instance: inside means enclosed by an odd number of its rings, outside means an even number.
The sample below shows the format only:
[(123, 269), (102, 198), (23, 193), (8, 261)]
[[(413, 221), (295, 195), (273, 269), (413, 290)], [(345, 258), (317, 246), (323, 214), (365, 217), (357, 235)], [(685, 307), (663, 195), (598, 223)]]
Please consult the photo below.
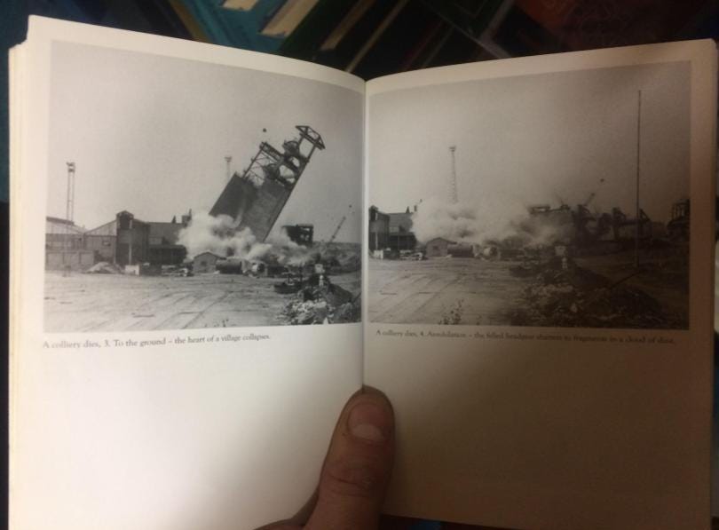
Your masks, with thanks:
[[(540, 269), (540, 267), (537, 267)], [(643, 290), (552, 260), (525, 289), (525, 306), (510, 314), (515, 326), (565, 328), (676, 328)]]

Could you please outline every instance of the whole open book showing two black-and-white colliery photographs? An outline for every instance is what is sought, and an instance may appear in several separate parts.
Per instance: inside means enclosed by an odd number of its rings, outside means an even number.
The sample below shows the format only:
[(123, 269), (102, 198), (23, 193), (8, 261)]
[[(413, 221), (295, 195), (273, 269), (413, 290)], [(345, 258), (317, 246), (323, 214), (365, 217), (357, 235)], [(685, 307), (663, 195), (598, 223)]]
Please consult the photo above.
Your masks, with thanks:
[(11, 67), (12, 528), (287, 518), (362, 384), (388, 513), (708, 528), (713, 43), (364, 83), (33, 18)]

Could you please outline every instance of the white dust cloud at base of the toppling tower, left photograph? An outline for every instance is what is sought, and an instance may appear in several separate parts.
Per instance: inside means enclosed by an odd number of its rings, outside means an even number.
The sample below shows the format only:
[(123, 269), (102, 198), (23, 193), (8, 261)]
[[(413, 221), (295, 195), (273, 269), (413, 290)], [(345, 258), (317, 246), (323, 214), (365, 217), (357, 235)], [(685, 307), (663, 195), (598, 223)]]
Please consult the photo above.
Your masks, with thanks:
[(261, 242), (249, 228), (238, 231), (229, 216), (213, 217), (205, 212), (193, 215), (190, 224), (180, 231), (178, 242), (185, 246), (188, 257), (212, 252), (222, 257), (281, 265), (303, 265), (311, 257), (309, 249), (290, 240), (284, 231)]

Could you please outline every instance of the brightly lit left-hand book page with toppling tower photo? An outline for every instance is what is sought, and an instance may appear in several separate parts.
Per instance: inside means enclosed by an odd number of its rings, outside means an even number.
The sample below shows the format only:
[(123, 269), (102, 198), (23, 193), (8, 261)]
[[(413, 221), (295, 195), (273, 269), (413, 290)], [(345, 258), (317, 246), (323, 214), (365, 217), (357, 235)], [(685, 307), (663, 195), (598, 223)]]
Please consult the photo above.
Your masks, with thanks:
[(23, 52), (12, 527), (291, 517), (361, 385), (364, 83), (36, 18)]

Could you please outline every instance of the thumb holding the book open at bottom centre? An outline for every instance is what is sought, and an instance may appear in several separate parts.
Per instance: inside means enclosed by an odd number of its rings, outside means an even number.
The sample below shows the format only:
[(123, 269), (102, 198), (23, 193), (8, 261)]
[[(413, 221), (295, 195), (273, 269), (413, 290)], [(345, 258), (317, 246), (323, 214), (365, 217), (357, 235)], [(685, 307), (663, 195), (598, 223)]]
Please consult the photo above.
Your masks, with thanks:
[(347, 402), (337, 422), (306, 530), (376, 528), (393, 455), (390, 402), (365, 388)]

